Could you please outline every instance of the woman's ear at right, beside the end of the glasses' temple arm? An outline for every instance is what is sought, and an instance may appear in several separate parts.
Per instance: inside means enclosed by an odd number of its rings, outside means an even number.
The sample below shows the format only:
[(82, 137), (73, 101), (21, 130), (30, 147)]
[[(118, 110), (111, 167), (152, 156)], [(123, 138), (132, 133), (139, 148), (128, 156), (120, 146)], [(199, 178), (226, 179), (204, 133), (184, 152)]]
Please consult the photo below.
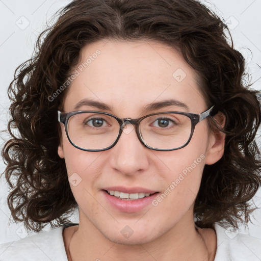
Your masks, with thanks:
[[(219, 112), (213, 117), (218, 126), (225, 126), (225, 115)], [(218, 162), (223, 154), (225, 147), (225, 134), (218, 131), (217, 129), (210, 133), (208, 137), (208, 148), (206, 151), (205, 164), (212, 165)]]

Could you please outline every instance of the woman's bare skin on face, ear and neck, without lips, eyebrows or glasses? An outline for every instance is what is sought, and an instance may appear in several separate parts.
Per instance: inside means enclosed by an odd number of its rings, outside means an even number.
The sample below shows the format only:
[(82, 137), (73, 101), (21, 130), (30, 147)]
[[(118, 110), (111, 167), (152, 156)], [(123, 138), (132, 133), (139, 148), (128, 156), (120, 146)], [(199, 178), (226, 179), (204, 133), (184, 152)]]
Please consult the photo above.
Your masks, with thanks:
[[(152, 41), (98, 41), (85, 46), (81, 64), (99, 49), (101, 54), (71, 83), (65, 96), (64, 112), (75, 111), (77, 102), (92, 98), (113, 110), (82, 106), (78, 110), (109, 112), (119, 118), (139, 118), (162, 111), (186, 111), (170, 106), (144, 113), (154, 101), (173, 97), (189, 106), (189, 112), (207, 108), (197, 84), (197, 74), (175, 49)], [(180, 83), (172, 76), (178, 68), (187, 76)], [(127, 125), (132, 128), (132, 125)], [(224, 135), (212, 134), (203, 120), (195, 127), (190, 143), (174, 151), (154, 151), (143, 146), (135, 131), (122, 133), (107, 151), (89, 152), (73, 147), (61, 124), (58, 148), (65, 159), (68, 177), (77, 173), (82, 181), (71, 186), (79, 205), (79, 226), (64, 229), (69, 260), (214, 260), (214, 229), (194, 224), (193, 206), (205, 164), (223, 155)], [(179, 173), (203, 154), (204, 159), (157, 206), (149, 204), (136, 213), (116, 210), (105, 200), (102, 188), (144, 187), (163, 193)], [(128, 225), (134, 233), (128, 239), (121, 230)], [(205, 242), (204, 242), (204, 241)], [(71, 256), (71, 257), (70, 257)], [(88, 259), (86, 259), (88, 258)]]

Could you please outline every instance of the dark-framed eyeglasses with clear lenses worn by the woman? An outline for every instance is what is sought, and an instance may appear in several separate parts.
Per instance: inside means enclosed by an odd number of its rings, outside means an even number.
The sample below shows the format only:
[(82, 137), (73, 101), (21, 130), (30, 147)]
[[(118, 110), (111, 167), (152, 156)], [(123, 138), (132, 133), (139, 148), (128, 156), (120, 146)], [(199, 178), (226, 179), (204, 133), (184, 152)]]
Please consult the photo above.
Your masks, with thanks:
[[(215, 110), (216, 111), (216, 110)], [(195, 126), (214, 116), (214, 106), (200, 113), (160, 112), (139, 119), (120, 119), (98, 111), (58, 111), (58, 121), (65, 125), (69, 142), (85, 151), (103, 151), (116, 145), (126, 124), (134, 124), (140, 142), (147, 148), (170, 151), (187, 146)], [(127, 133), (126, 133), (127, 134)]]

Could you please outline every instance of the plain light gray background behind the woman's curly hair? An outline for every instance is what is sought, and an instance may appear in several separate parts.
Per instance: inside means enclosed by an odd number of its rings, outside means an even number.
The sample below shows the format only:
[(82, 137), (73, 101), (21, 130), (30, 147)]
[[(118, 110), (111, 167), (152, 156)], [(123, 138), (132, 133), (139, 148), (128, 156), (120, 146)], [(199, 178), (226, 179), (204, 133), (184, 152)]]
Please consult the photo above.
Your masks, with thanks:
[[(7, 88), (13, 80), (15, 68), (31, 58), (34, 43), (40, 32), (46, 27), (46, 21), (68, 0), (0, 0), (0, 131), (6, 129), (9, 99)], [(252, 74), (253, 87), (261, 89), (261, 0), (212, 0), (201, 1), (210, 6), (227, 21), (231, 29), (234, 47), (241, 51), (247, 60), (247, 71)], [(250, 50), (252, 51), (252, 54)], [(3, 139), (8, 136), (1, 134)], [(0, 160), (0, 172), (5, 165)], [(5, 180), (0, 180), (0, 243), (19, 240), (27, 236), (22, 223), (15, 224), (10, 218), (6, 204), (8, 189)], [(254, 198), (255, 204), (261, 207), (261, 192)], [(75, 215), (76, 216), (76, 215)], [(72, 221), (77, 221), (76, 217)], [(249, 230), (241, 228), (243, 233), (261, 239), (261, 210), (253, 213), (253, 224)], [(49, 230), (47, 226), (45, 230)], [(230, 238), (236, 235), (227, 232)]]

